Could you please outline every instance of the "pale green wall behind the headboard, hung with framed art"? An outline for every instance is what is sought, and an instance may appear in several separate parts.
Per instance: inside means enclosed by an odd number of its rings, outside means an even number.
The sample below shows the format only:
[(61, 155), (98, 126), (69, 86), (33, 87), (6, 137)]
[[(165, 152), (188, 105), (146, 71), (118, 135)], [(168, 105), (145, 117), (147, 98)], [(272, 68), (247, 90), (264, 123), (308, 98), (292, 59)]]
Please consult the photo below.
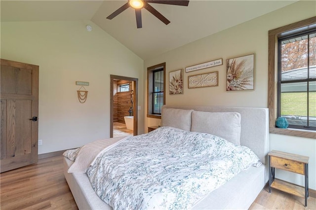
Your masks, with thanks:
[[(223, 58), (224, 65), (222, 66), (184, 73), (184, 94), (169, 95), (167, 88), (166, 104), (268, 107), (268, 31), (315, 15), (316, 1), (301, 0), (148, 59), (144, 62), (144, 78), (146, 79), (147, 67), (162, 62), (166, 62), (166, 81), (168, 82), (170, 71), (184, 69), (185, 72), (186, 67)], [(201, 27), (212, 27), (212, 20), (209, 21), (209, 25)], [(226, 91), (226, 60), (252, 53), (255, 53), (255, 90)], [(212, 71), (219, 71), (219, 86), (188, 89), (189, 75)], [(159, 123), (160, 120), (154, 118), (145, 119), (146, 126)], [(270, 149), (309, 156), (310, 188), (316, 189), (316, 140), (271, 134)], [(276, 171), (276, 177), (304, 185), (302, 175)]]

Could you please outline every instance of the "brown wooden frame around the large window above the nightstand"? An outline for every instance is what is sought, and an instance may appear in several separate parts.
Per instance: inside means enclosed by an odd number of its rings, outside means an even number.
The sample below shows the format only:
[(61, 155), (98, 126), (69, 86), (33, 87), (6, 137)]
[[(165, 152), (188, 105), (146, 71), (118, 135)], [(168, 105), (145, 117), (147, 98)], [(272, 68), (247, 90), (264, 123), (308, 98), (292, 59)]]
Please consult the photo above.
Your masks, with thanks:
[(278, 81), (278, 37), (285, 32), (316, 24), (316, 17), (298, 21), (269, 31), (268, 44), (268, 107), (270, 133), (316, 139), (316, 132), (300, 129), (276, 128), (277, 81)]

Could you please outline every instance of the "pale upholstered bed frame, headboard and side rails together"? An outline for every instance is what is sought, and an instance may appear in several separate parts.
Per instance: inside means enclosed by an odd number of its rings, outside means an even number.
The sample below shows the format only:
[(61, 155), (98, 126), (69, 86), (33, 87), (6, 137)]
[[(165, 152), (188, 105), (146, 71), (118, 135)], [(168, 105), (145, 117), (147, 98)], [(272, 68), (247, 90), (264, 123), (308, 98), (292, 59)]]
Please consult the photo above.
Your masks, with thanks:
[[(164, 108), (194, 109), (207, 112), (238, 112), (241, 115), (240, 144), (252, 149), (263, 163), (250, 167), (220, 188), (202, 198), (193, 209), (248, 209), (268, 181), (269, 152), (268, 108), (228, 106), (170, 106)], [(177, 117), (177, 116), (175, 116)], [(162, 116), (163, 119), (163, 116)], [(94, 192), (86, 174), (68, 174), (72, 161), (64, 158), (64, 175), (79, 209), (112, 210)]]

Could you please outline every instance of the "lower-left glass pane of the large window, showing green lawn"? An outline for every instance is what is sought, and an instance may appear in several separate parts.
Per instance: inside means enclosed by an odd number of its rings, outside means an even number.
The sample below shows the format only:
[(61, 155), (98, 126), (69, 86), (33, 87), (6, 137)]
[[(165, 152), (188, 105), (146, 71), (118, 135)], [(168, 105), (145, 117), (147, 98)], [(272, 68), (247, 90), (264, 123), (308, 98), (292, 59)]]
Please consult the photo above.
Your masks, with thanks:
[(281, 84), (281, 116), (289, 125), (307, 126), (307, 82)]

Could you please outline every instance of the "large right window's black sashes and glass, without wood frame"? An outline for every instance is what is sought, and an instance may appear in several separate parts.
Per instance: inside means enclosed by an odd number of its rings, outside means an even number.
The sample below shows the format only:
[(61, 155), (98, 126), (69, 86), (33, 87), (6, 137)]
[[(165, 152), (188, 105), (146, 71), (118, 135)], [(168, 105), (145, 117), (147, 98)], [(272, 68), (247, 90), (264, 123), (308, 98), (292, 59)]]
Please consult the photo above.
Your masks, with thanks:
[(277, 116), (316, 130), (316, 29), (279, 37), (278, 52)]

